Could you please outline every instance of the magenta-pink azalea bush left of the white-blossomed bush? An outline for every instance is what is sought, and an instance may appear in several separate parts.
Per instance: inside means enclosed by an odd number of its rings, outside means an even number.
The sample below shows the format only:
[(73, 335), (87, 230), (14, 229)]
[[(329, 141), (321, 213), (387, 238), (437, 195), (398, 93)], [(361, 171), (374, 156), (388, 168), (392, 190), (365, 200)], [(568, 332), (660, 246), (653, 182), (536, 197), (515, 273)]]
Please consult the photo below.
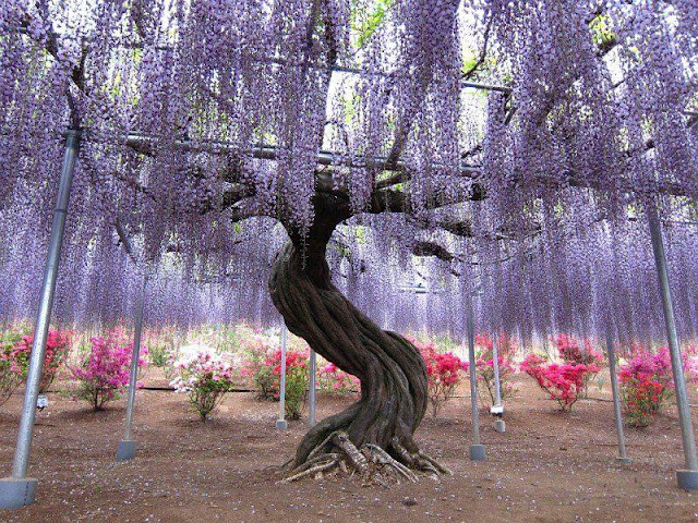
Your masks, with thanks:
[[(141, 348), (139, 366), (147, 364), (147, 348)], [(75, 400), (86, 401), (95, 411), (118, 399), (129, 385), (133, 344), (121, 329), (104, 337), (91, 338), (89, 348), (76, 367), (71, 368), (77, 380)]]

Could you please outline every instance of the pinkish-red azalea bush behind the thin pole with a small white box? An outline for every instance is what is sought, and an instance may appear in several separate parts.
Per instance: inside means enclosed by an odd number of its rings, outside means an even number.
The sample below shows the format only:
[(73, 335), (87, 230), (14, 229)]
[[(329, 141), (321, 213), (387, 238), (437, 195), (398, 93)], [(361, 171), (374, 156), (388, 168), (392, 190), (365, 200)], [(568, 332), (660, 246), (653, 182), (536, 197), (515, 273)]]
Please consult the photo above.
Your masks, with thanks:
[[(514, 396), (515, 388), (512, 382), (516, 368), (514, 366), (514, 354), (517, 346), (514, 340), (506, 336), (498, 337), (497, 366), (500, 368), (500, 396), (502, 400)], [(496, 402), (496, 389), (494, 381), (494, 343), (489, 333), (476, 336), (476, 346), (479, 348), (476, 358), (476, 374), (478, 381), (484, 386), (490, 397), (490, 404)], [(480, 387), (479, 390), (482, 390)]]

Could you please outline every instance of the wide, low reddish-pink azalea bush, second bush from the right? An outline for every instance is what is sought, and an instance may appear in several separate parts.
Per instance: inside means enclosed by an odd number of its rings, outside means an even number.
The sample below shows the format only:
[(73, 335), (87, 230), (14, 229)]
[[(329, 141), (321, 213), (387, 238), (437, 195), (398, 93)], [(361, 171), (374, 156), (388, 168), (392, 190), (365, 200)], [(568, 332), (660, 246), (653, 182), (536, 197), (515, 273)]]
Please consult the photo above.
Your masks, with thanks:
[(526, 356), (520, 368), (531, 376), (552, 400), (557, 401), (563, 412), (570, 411), (581, 397), (585, 377), (600, 370), (594, 364), (549, 363), (546, 358), (533, 353)]

